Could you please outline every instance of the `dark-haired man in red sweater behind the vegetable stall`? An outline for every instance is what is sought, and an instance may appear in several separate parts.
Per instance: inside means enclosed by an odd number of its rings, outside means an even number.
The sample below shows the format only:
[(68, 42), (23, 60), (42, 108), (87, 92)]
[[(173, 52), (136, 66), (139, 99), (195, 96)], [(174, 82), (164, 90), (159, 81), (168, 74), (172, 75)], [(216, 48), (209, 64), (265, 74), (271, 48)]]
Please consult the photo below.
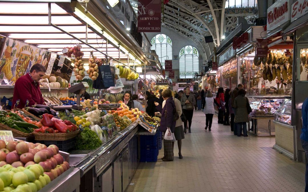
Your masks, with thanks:
[(21, 76), (16, 82), (14, 87), (12, 108), (22, 109), (26, 106), (27, 100), (28, 106), (36, 104), (43, 104), (44, 99), (42, 97), (41, 90), (39, 88), (39, 80), (42, 79), (46, 72), (46, 69), (41, 64), (35, 64), (30, 69), (30, 73)]

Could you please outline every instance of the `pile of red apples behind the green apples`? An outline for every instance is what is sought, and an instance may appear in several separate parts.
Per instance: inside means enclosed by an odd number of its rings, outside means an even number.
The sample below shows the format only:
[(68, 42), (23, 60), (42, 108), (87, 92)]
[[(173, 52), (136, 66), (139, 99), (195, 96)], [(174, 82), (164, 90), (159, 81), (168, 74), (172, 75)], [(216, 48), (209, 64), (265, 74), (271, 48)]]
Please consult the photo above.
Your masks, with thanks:
[(47, 147), (41, 143), (26, 143), (21, 140), (10, 141), (6, 145), (0, 140), (0, 148), (0, 167), (10, 165), (14, 168), (27, 168), (38, 164), (42, 167), (42, 174), (48, 175), (51, 181), (70, 168), (56, 145)]

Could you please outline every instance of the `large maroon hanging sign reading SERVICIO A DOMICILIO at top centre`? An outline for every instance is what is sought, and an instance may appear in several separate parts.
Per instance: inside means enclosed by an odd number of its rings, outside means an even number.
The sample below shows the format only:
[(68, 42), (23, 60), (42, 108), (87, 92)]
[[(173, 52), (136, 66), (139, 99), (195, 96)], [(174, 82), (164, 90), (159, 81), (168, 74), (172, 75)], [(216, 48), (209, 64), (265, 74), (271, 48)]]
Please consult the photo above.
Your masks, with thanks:
[(161, 1), (138, 1), (137, 32), (160, 32)]

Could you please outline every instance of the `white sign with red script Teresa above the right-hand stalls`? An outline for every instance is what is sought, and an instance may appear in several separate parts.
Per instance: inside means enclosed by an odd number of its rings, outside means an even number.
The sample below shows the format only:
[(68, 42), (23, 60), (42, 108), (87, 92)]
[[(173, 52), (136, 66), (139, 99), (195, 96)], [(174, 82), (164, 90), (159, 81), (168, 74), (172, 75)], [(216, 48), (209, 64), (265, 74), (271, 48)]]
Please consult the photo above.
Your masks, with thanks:
[(276, 29), (290, 20), (289, 0), (279, 0), (267, 9), (267, 31)]

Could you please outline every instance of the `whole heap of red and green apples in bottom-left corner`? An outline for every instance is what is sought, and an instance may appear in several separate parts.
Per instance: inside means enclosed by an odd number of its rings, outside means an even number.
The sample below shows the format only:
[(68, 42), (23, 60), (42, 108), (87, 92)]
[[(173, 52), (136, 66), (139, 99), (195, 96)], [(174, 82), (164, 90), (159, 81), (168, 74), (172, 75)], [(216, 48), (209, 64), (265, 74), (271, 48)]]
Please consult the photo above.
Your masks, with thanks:
[(70, 168), (56, 145), (0, 140), (0, 190), (39, 191)]

